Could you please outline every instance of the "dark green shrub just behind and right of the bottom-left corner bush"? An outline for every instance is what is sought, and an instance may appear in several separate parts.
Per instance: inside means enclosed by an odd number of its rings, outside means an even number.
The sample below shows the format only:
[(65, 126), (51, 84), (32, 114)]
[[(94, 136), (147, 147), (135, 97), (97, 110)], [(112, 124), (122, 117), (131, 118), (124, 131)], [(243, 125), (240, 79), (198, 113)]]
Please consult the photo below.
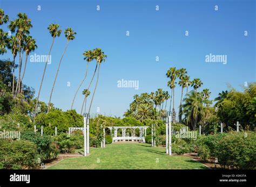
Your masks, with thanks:
[(35, 143), (42, 162), (55, 159), (59, 154), (57, 144), (48, 135), (41, 136), (33, 131), (24, 131), (21, 133), (21, 139)]

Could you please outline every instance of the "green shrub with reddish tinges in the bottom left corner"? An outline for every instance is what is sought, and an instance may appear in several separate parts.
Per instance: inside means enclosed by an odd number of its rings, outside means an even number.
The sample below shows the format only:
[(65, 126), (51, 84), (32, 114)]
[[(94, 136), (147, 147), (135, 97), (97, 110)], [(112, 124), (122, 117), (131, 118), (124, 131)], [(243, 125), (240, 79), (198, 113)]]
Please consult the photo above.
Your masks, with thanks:
[(26, 140), (0, 140), (0, 168), (38, 168), (36, 145)]

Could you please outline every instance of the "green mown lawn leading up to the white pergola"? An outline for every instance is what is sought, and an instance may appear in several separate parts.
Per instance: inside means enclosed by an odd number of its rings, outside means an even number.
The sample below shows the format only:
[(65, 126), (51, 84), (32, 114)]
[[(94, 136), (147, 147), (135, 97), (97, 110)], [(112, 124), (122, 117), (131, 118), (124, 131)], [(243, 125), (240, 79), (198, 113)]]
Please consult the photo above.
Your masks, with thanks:
[(86, 157), (60, 161), (48, 169), (207, 169), (188, 157), (165, 154), (165, 148), (147, 143), (114, 143), (91, 148)]

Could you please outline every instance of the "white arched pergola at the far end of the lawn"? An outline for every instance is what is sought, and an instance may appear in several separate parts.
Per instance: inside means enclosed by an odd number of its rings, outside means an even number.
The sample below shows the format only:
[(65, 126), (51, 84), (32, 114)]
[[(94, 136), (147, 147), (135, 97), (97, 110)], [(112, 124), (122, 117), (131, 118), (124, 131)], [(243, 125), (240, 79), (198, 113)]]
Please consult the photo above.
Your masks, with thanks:
[[(122, 141), (138, 141), (145, 143), (146, 130), (149, 126), (113, 126), (107, 127), (110, 129), (110, 134), (112, 136), (112, 129), (114, 130), (114, 136), (112, 137), (112, 142), (122, 142)], [(117, 130), (122, 130), (122, 136), (117, 136)], [(135, 136), (135, 130), (139, 129), (139, 136)], [(131, 134), (128, 134), (126, 130), (130, 129)], [(128, 135), (127, 135), (128, 134)]]

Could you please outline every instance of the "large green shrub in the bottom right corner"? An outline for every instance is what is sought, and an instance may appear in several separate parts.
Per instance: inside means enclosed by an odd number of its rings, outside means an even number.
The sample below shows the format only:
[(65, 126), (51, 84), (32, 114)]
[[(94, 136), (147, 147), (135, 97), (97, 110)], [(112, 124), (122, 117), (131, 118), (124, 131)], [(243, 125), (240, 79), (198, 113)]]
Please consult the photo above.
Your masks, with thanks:
[(201, 135), (197, 151), (202, 160), (217, 157), (223, 168), (256, 168), (256, 135), (251, 131)]

